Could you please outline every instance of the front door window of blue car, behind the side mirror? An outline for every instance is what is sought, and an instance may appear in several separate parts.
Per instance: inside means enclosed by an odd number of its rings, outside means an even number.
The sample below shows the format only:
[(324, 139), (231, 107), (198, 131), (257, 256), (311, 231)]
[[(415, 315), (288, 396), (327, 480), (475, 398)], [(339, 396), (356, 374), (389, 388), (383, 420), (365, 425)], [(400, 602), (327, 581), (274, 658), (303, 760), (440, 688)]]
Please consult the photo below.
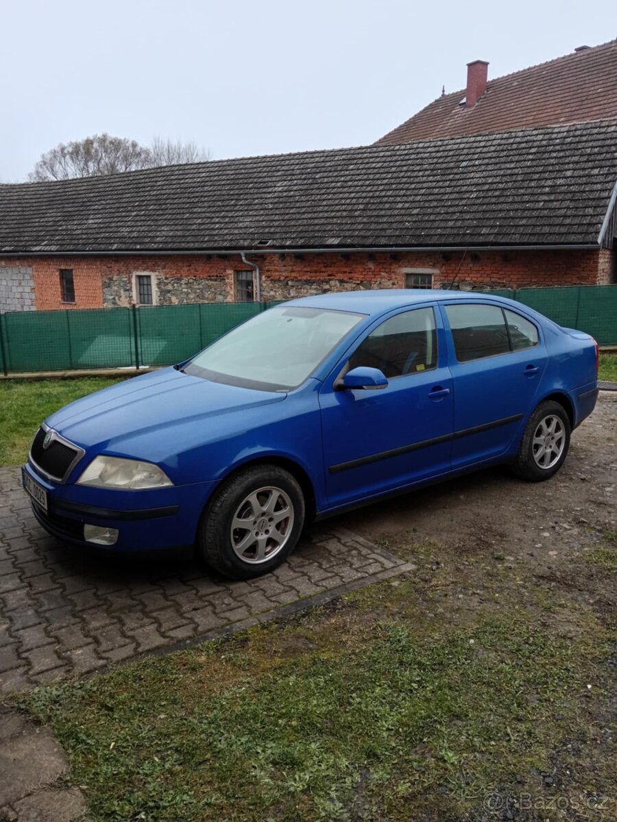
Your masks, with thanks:
[(415, 308), (390, 317), (364, 339), (350, 368), (378, 368), (388, 380), (437, 366), (437, 331), (432, 308)]

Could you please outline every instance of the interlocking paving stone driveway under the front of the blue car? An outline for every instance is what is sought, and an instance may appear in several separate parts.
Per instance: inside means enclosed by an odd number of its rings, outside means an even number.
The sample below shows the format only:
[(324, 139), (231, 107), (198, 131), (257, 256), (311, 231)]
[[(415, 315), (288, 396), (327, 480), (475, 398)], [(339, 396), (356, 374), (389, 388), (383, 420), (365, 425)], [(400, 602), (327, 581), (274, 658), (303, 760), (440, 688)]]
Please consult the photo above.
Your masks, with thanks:
[(252, 582), (215, 578), (188, 552), (86, 555), (49, 537), (19, 469), (0, 469), (0, 693), (239, 629), (411, 567), (327, 524), (313, 528), (284, 566)]

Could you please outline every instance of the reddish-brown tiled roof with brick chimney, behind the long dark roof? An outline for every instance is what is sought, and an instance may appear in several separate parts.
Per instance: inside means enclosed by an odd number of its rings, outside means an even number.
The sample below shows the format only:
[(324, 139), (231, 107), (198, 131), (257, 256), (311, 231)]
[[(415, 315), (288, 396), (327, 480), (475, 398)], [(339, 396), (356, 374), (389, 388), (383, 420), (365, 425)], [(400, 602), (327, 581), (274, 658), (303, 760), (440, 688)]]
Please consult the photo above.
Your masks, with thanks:
[(467, 109), (465, 89), (434, 100), (376, 145), (617, 120), (617, 39), (495, 80)]

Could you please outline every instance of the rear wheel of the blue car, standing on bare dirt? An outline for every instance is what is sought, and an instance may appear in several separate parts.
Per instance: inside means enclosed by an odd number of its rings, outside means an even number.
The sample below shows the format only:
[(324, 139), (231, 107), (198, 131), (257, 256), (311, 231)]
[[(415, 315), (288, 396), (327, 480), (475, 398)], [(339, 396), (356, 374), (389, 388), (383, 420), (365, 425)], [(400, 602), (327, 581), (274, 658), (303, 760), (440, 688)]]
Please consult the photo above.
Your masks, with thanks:
[(564, 406), (540, 403), (531, 414), (512, 469), (531, 483), (550, 479), (564, 464), (570, 447), (570, 420)]

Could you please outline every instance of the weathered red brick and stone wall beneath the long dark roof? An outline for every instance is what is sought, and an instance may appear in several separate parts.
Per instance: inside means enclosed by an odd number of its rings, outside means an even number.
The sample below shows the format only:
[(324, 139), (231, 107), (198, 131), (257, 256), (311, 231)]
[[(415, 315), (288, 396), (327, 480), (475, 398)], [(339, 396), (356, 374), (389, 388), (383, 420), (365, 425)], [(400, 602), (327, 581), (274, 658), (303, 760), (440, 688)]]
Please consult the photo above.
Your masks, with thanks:
[[(281, 300), (327, 291), (405, 288), (406, 275), (431, 272), (434, 288), (520, 289), (615, 282), (615, 251), (607, 249), (487, 250), (466, 252), (327, 252), (248, 254), (262, 271), (262, 299)], [(239, 298), (239, 255), (33, 257), (15, 266), (0, 260), (0, 275), (31, 270), (35, 306), (130, 306), (135, 273), (153, 276), (155, 302), (229, 302)], [(59, 270), (71, 268), (75, 302), (63, 303)], [(27, 295), (26, 295), (27, 296)]]

